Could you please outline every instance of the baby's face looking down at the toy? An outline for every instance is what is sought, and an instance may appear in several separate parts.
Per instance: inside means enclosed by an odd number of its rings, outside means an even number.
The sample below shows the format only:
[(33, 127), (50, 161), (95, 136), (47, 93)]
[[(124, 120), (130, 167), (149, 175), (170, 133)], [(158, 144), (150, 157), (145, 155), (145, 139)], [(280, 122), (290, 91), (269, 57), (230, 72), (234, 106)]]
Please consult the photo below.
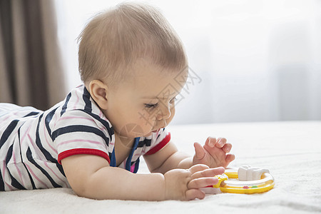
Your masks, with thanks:
[(104, 111), (115, 133), (127, 138), (150, 136), (172, 121), (175, 97), (186, 79), (183, 71), (164, 71), (147, 61), (132, 68), (135, 77), (108, 92), (108, 109)]

